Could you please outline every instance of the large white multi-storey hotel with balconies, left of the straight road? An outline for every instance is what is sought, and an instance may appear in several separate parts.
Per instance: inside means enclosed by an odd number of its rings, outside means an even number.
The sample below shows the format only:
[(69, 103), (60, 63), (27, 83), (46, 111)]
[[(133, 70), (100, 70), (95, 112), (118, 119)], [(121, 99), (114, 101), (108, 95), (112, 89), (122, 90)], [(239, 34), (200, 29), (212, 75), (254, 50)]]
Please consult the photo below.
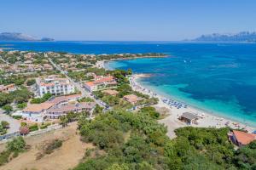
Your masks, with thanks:
[(46, 77), (44, 79), (37, 78), (37, 89), (39, 96), (43, 97), (44, 94), (73, 94), (75, 92), (74, 85), (67, 78), (60, 77)]

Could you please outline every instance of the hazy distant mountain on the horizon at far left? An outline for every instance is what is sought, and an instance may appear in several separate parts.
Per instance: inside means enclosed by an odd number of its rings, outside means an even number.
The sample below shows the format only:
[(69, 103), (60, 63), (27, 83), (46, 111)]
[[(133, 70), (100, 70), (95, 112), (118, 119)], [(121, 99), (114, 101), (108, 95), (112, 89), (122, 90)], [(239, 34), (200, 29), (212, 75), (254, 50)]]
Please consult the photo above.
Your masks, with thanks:
[(23, 33), (3, 32), (0, 33), (0, 41), (54, 41), (54, 39), (49, 37), (38, 39)]

